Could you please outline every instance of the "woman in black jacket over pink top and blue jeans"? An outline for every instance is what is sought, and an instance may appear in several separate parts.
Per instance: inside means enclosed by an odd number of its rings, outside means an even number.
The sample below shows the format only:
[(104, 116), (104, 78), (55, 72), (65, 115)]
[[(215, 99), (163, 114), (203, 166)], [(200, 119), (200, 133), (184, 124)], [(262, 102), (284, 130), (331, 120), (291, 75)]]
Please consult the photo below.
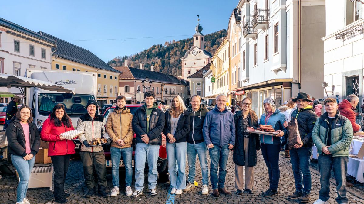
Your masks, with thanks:
[(28, 181), (40, 146), (39, 131), (33, 121), (32, 111), (22, 105), (6, 129), (11, 161), (19, 174), (16, 203), (29, 203)]

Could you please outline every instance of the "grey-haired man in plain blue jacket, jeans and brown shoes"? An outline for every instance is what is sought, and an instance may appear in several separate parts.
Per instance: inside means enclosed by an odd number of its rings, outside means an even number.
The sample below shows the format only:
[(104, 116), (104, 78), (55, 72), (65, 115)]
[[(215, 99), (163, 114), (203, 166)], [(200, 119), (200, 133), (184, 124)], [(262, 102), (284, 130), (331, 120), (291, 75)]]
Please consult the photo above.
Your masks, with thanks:
[[(203, 123), (203, 138), (210, 154), (210, 180), (213, 189), (213, 196), (218, 197), (219, 192), (231, 195), (225, 189), (226, 164), (229, 158), (229, 151), (235, 144), (235, 123), (234, 115), (227, 110), (226, 95), (216, 97), (215, 109), (208, 112)], [(219, 176), (217, 168), (220, 167)]]

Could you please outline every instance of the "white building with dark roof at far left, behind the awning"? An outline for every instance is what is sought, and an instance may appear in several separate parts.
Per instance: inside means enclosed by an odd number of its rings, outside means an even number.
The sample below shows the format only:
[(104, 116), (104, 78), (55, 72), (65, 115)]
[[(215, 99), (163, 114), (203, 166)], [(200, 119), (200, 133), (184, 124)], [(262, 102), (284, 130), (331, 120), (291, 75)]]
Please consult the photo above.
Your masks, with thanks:
[[(54, 40), (0, 18), (0, 73), (25, 76), (27, 69), (51, 69), (51, 49), (55, 46)], [(17, 88), (0, 87), (0, 91), (23, 98)], [(1, 97), (1, 93), (0, 103), (9, 102), (10, 97)]]

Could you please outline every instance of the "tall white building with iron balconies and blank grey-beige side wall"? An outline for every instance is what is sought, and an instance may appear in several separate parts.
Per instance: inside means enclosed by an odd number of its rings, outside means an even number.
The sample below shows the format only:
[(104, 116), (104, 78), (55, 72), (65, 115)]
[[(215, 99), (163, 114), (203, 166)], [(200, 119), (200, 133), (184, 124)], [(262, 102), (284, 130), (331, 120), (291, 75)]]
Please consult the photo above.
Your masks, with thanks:
[(240, 0), (241, 74), (237, 100), (253, 99), (263, 113), (263, 100), (276, 106), (298, 92), (322, 98), (325, 36), (324, 0)]

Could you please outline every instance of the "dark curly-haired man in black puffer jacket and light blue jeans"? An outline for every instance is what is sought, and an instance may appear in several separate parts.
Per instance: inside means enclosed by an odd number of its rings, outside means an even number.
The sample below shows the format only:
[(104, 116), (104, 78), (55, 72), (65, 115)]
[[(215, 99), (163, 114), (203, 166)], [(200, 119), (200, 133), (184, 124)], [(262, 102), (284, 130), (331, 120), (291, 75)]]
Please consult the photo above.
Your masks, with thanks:
[(144, 188), (144, 168), (148, 161), (150, 195), (157, 195), (157, 160), (159, 145), (162, 144), (162, 131), (166, 118), (158, 104), (155, 103), (155, 93), (147, 91), (144, 94), (145, 104), (135, 111), (132, 126), (137, 138), (135, 142), (135, 191), (132, 197), (138, 197)]

